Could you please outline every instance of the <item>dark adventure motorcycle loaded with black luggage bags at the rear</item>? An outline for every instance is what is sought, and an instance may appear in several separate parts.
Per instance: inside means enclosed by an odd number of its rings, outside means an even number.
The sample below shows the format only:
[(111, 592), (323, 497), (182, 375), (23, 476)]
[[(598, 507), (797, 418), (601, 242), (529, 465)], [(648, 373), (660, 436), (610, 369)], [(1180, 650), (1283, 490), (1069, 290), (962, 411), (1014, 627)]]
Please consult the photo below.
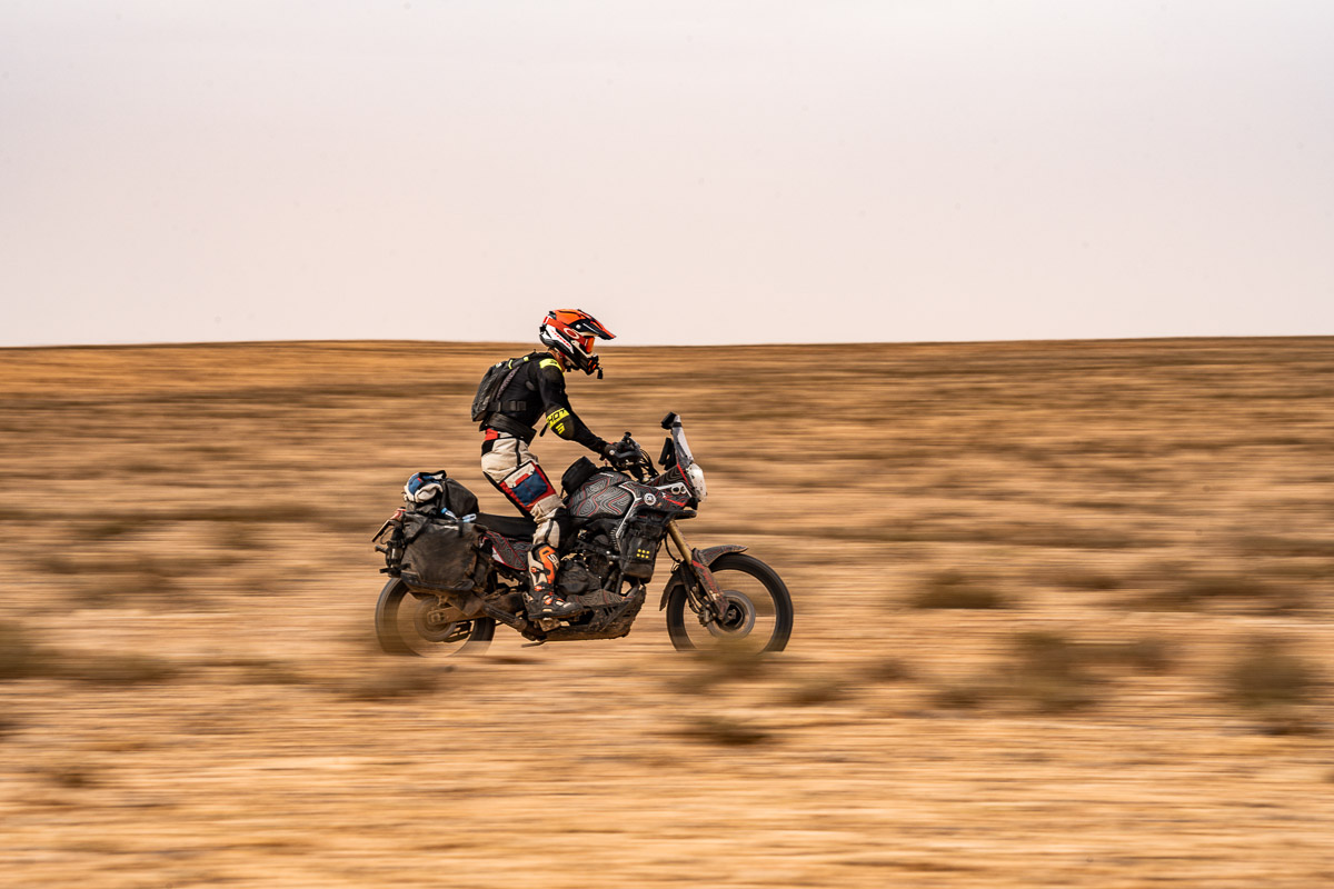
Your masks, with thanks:
[[(566, 505), (558, 521), (566, 524), (555, 585), (580, 605), (566, 617), (527, 614), (531, 518), (479, 512), (472, 521), (438, 520), (400, 508), (372, 538), (386, 558), (380, 570), (390, 574), (375, 609), (380, 648), (410, 656), (476, 653), (491, 642), (496, 624), (530, 645), (619, 638), (630, 633), (659, 553), (667, 552), (674, 566), (658, 608), (666, 610), (678, 650), (783, 650), (792, 632), (787, 586), (772, 568), (744, 554), (746, 546), (696, 549), (686, 541), (679, 522), (698, 514), (708, 489), (680, 417), (668, 413), (662, 427), (670, 433), (658, 458), (662, 469), (627, 432), (610, 466), (580, 457), (562, 477)], [(458, 573), (462, 582), (430, 584), (422, 565), (414, 565), (423, 561), (414, 554), (420, 538), (414, 534), (439, 529), (442, 521), (450, 530), (439, 532), (440, 540), (467, 562)]]

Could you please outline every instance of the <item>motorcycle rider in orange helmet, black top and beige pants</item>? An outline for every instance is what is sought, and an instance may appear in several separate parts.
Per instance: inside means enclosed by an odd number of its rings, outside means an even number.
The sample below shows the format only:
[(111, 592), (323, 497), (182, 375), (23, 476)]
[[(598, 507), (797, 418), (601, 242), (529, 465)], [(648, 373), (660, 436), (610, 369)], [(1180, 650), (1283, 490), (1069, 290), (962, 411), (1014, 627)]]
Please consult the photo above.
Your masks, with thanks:
[(500, 409), (482, 421), (480, 428), (486, 433), (482, 472), (510, 502), (538, 522), (532, 549), (528, 550), (530, 614), (563, 617), (579, 610), (579, 605), (566, 601), (555, 588), (556, 548), (560, 545), (556, 510), (563, 504), (538, 458), (528, 450), (528, 444), (535, 435), (534, 425), (544, 417), (547, 427), (562, 439), (608, 456), (611, 445), (595, 436), (570, 407), (564, 375), (578, 368), (590, 375), (596, 371), (600, 379), (594, 343), (598, 339), (611, 340), (614, 335), (587, 312), (552, 309), (543, 319), (538, 337), (547, 351), (511, 360), (511, 367), (522, 363), (519, 372), (499, 393)]

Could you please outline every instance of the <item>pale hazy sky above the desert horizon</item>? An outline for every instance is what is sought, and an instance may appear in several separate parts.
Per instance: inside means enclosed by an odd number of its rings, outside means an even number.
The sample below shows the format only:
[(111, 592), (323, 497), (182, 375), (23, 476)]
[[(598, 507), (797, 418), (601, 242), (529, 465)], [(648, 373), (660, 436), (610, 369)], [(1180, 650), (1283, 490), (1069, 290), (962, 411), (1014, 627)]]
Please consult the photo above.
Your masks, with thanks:
[(1334, 3), (4, 0), (0, 345), (1334, 335)]

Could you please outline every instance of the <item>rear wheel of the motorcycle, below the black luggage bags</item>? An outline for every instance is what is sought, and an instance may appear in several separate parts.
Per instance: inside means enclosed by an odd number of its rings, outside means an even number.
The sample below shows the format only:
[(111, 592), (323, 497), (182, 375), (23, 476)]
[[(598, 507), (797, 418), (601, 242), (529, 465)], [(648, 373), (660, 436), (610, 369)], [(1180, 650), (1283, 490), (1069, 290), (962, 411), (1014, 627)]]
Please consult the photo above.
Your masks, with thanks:
[(375, 636), (387, 654), (476, 654), (486, 650), (495, 632), (496, 624), (490, 617), (452, 620), (439, 597), (414, 593), (402, 577), (390, 578), (375, 606)]

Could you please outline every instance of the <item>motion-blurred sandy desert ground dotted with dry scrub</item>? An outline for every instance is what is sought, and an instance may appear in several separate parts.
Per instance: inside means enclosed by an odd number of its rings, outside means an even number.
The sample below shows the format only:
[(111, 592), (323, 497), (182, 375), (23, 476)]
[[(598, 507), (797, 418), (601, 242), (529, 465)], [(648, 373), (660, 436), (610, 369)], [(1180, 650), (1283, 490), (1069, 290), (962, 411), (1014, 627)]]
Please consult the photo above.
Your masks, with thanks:
[[(1334, 339), (608, 348), (759, 662), (394, 658), (370, 537), (519, 345), (0, 351), (0, 884), (1334, 885)], [(554, 436), (554, 476), (580, 454)]]

